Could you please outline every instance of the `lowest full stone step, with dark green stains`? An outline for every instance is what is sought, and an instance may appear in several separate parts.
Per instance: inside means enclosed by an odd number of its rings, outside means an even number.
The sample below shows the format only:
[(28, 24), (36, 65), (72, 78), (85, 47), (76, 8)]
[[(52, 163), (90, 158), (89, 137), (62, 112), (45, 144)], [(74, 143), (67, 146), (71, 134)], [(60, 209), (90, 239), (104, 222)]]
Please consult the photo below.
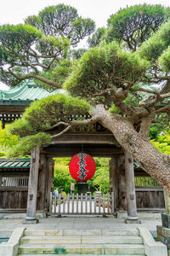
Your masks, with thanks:
[(144, 246), (139, 244), (22, 244), (19, 254), (144, 254)]

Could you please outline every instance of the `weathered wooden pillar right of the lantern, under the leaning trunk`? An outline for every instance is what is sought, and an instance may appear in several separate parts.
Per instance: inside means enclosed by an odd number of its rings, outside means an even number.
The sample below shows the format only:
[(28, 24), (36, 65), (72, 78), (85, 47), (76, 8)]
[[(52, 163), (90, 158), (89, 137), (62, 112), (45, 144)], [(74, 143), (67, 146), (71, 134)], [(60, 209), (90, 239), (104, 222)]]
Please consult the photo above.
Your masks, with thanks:
[(138, 220), (138, 215), (136, 208), (133, 158), (127, 151), (125, 151), (125, 177), (127, 188), (127, 221), (136, 221)]

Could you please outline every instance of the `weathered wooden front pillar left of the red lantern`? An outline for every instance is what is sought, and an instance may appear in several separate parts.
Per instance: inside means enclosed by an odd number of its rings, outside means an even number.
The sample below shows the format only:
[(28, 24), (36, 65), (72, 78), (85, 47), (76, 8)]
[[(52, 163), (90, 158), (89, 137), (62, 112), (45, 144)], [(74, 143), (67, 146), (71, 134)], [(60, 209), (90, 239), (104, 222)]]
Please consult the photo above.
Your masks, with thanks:
[(39, 157), (40, 149), (37, 147), (31, 153), (31, 168), (28, 183), (28, 200), (27, 200), (27, 212), (26, 223), (37, 223), (36, 211), (37, 211), (37, 182), (39, 171)]

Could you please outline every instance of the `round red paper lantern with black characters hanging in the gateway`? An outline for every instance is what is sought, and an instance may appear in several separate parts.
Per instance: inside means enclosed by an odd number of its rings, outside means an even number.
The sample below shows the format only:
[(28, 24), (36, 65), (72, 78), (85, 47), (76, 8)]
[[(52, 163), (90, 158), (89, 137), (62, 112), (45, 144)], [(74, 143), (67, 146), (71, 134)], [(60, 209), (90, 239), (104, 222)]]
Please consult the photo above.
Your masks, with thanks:
[(77, 181), (87, 181), (94, 177), (95, 168), (93, 157), (86, 153), (75, 154), (69, 163), (71, 177)]

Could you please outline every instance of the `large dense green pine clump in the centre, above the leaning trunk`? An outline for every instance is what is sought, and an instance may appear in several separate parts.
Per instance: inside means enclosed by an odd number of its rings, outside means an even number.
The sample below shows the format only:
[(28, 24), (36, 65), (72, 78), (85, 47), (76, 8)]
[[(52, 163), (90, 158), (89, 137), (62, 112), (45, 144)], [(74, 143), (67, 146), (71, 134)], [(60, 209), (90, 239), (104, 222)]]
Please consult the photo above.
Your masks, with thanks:
[(122, 87), (127, 81), (135, 84), (148, 67), (147, 61), (140, 59), (139, 55), (122, 51), (116, 42), (103, 44), (82, 56), (64, 88), (72, 96), (95, 101), (94, 94), (102, 90)]

